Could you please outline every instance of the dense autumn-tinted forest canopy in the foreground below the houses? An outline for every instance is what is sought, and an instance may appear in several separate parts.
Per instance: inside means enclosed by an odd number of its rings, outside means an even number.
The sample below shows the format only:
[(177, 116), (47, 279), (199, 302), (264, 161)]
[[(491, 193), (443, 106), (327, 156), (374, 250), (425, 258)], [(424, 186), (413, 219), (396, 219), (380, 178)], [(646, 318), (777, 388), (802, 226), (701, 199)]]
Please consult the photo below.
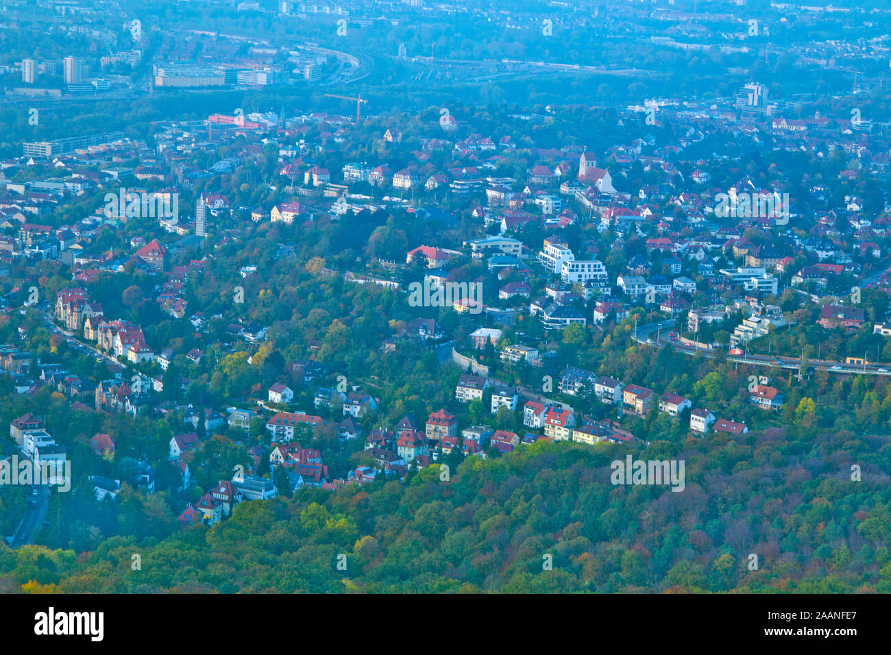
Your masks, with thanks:
[(431, 467), (405, 486), (302, 490), (160, 539), (149, 514), (79, 555), (0, 545), (0, 590), (891, 592), (887, 438), (792, 429), (650, 444), (648, 458), (686, 461), (681, 494), (611, 485), (625, 454), (538, 443), (470, 458), (447, 482)]

